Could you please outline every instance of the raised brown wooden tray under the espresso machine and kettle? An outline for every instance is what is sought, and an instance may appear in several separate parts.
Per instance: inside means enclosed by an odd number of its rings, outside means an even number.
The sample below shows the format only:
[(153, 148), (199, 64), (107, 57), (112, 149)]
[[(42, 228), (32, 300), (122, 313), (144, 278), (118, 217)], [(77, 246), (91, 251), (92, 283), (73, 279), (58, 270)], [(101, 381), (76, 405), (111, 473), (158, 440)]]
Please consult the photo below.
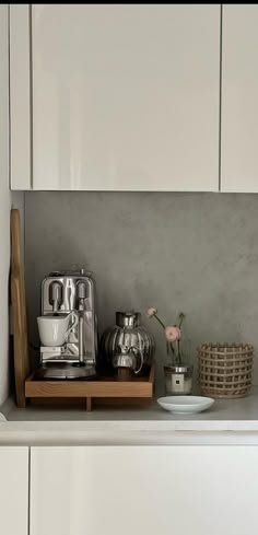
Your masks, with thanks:
[(25, 381), (25, 398), (84, 398), (87, 410), (92, 410), (94, 398), (152, 399), (154, 374), (152, 364), (149, 376), (136, 377), (133, 381), (118, 381), (117, 377), (101, 377), (97, 381), (38, 381), (31, 375)]

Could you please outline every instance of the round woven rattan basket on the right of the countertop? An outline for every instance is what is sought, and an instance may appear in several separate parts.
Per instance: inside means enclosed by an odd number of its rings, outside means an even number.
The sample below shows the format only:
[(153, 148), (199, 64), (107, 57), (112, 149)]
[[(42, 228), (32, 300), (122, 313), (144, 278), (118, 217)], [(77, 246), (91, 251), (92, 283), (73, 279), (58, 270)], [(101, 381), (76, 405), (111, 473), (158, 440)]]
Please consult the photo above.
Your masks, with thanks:
[(245, 397), (251, 387), (254, 348), (248, 344), (203, 344), (199, 352), (201, 393)]

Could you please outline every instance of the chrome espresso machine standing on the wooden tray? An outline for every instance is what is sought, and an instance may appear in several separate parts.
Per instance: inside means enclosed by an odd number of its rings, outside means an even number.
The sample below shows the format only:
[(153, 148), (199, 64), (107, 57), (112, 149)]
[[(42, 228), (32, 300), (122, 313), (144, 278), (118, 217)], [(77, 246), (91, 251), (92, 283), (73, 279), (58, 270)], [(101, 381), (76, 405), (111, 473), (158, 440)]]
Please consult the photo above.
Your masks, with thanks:
[(58, 324), (58, 319), (68, 315), (74, 316), (75, 321), (60, 346), (46, 345), (45, 340), (43, 345), (40, 340), (38, 379), (85, 380), (96, 375), (95, 283), (92, 274), (84, 269), (54, 271), (42, 282), (42, 321), (50, 322), (48, 327), (51, 328), (55, 321)]

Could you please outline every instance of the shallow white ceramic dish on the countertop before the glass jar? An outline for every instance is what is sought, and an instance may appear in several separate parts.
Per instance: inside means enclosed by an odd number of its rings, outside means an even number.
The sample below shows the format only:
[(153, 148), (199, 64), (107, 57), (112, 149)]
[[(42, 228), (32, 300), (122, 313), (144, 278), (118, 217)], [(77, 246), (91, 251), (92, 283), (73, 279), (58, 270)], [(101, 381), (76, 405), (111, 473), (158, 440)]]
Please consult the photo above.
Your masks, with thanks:
[(202, 396), (165, 396), (157, 399), (159, 405), (175, 415), (195, 415), (209, 409), (214, 399)]

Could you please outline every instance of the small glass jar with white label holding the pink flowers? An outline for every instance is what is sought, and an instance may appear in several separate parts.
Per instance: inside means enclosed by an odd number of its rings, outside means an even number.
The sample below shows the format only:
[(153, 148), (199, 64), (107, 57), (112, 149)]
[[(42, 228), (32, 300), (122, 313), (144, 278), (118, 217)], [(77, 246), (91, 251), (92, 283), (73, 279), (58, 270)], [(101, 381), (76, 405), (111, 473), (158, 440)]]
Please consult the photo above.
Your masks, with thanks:
[(169, 363), (164, 365), (165, 391), (167, 396), (188, 396), (192, 393), (194, 367), (190, 364), (190, 342), (185, 340), (184, 347), (175, 350), (167, 344)]

